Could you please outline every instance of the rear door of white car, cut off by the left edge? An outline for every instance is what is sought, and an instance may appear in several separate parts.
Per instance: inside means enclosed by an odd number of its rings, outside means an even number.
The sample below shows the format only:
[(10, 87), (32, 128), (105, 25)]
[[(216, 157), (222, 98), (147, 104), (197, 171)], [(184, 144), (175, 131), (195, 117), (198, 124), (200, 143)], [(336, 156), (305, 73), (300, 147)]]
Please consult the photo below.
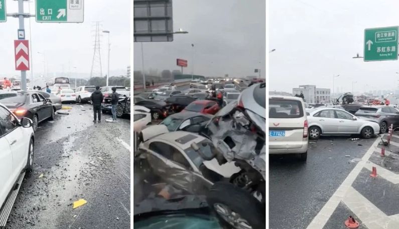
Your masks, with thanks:
[(6, 129), (3, 126), (2, 113), (0, 113), (0, 207), (6, 200), (10, 192), (14, 180), (13, 177), (13, 153), (11, 152), (10, 143), (6, 138)]

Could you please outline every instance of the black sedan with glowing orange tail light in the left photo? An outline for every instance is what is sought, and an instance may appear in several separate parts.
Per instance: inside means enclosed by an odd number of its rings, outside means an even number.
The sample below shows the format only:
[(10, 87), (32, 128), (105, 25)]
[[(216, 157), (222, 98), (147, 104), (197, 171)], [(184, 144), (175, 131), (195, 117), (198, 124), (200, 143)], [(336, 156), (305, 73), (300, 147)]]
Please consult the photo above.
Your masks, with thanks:
[(51, 102), (37, 92), (0, 92), (0, 103), (9, 108), (19, 119), (30, 118), (33, 130), (46, 119), (54, 119), (54, 107)]

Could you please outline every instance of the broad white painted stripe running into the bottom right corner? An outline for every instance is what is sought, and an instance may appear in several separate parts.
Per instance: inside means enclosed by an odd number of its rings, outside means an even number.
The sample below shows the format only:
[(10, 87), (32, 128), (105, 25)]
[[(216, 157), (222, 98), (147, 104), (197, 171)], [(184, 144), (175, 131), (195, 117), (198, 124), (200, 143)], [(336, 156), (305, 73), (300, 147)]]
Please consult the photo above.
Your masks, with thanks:
[(389, 218), (353, 187), (349, 187), (343, 201), (368, 229), (397, 229), (399, 225), (398, 220)]

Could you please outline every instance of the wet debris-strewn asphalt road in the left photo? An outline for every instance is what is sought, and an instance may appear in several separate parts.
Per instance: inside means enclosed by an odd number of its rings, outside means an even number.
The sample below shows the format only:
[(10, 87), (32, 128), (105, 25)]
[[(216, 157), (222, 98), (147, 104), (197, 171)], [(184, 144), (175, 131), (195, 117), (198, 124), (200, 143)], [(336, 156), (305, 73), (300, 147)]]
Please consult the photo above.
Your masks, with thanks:
[[(91, 105), (64, 106), (69, 115), (39, 124), (34, 171), (6, 228), (130, 228), (129, 117), (94, 124)], [(79, 199), (87, 203), (73, 209)]]

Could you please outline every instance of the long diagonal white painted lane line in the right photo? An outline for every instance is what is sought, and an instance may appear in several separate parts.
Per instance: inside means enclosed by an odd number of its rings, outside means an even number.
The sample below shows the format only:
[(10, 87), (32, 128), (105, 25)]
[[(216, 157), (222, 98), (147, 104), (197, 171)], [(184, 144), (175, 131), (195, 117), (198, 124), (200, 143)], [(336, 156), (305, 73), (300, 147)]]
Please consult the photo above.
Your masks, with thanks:
[[(377, 138), (375, 142), (371, 145), (371, 147), (367, 150), (364, 156), (361, 158), (361, 161), (357, 163), (357, 165), (352, 169), (349, 175), (345, 178), (342, 184), (338, 187), (338, 189), (334, 192), (331, 198), (324, 204), (323, 208), (317, 213), (317, 215), (310, 222), (307, 229), (321, 229), (324, 227), (335, 208), (337, 208), (339, 202), (345, 196), (348, 189), (351, 187), (353, 181), (356, 179), (357, 175), (364, 167), (368, 158), (375, 151), (376, 146), (380, 142), (380, 138)], [(397, 228), (396, 228), (397, 229)]]

